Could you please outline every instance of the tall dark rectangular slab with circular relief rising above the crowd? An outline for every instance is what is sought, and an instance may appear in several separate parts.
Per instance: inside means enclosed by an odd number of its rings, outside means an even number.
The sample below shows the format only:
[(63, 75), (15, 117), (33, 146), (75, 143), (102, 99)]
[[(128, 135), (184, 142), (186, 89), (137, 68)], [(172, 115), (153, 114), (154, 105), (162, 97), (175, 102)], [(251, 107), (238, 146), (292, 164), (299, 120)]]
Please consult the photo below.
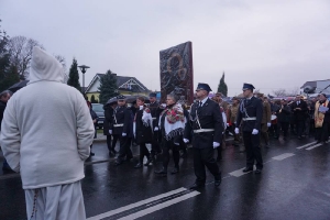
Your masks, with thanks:
[(161, 58), (161, 102), (166, 102), (168, 94), (175, 94), (179, 102), (194, 101), (193, 46), (186, 42), (160, 52)]

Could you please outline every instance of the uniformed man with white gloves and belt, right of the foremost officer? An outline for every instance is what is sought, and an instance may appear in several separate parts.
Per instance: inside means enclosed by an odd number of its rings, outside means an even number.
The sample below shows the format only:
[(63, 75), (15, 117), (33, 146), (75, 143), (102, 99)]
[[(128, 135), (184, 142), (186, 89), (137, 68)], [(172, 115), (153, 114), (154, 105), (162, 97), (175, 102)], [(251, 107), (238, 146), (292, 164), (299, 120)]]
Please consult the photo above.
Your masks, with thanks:
[(263, 103), (253, 96), (254, 87), (251, 84), (243, 85), (243, 96), (245, 97), (240, 105), (237, 117), (235, 133), (239, 134), (239, 125), (243, 120), (243, 140), (246, 151), (246, 167), (244, 173), (253, 170), (254, 161), (256, 161), (255, 174), (261, 174), (263, 169), (263, 158), (260, 150), (260, 130), (263, 119)]

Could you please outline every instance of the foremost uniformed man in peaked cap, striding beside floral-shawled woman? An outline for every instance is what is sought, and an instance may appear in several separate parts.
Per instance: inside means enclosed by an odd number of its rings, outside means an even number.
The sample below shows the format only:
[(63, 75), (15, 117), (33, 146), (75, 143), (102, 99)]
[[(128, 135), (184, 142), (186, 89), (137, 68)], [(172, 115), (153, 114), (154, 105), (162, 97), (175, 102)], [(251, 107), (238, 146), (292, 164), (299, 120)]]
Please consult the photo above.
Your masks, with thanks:
[(215, 176), (215, 186), (218, 187), (221, 184), (221, 173), (213, 157), (213, 150), (219, 147), (222, 141), (223, 120), (219, 105), (208, 98), (210, 91), (209, 85), (198, 84), (196, 89), (198, 102), (191, 106), (190, 122), (186, 123), (185, 143), (189, 142), (189, 135), (194, 130), (194, 169), (197, 177), (190, 189), (205, 186), (205, 166)]

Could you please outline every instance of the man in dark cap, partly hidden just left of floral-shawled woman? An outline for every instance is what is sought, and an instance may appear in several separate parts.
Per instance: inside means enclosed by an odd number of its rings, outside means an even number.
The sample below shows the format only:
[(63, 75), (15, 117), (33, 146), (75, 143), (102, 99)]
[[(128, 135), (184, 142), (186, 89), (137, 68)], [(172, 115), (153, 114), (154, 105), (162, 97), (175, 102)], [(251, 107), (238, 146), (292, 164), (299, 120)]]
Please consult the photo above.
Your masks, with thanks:
[(153, 128), (154, 128), (154, 136), (153, 136), (153, 143), (152, 143), (152, 150), (151, 150), (151, 158), (152, 161), (154, 160), (154, 156), (160, 154), (161, 147), (158, 144), (158, 119), (160, 119), (160, 113), (163, 111), (160, 108), (160, 103), (156, 100), (156, 94), (152, 92), (148, 95), (148, 109), (151, 111), (152, 118), (153, 118)]

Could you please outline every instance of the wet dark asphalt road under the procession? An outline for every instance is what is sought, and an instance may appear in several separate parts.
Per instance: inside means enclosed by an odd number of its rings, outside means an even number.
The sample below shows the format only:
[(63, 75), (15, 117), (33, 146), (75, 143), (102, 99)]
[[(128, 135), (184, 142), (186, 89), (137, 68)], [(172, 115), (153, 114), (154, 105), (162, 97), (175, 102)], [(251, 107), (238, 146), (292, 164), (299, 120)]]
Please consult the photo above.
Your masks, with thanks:
[[(242, 175), (245, 154), (229, 144), (219, 162), (220, 188), (208, 173), (199, 191), (188, 190), (195, 182), (191, 154), (180, 160), (179, 174), (158, 177), (154, 169), (161, 163), (140, 169), (136, 161), (114, 166), (106, 143), (99, 142), (82, 180), (86, 213), (90, 219), (330, 219), (330, 143), (304, 146), (311, 142), (272, 141), (271, 148), (262, 148), (261, 175)], [(173, 161), (169, 170), (172, 166)], [(0, 207), (1, 220), (26, 219), (18, 174), (0, 175)]]

